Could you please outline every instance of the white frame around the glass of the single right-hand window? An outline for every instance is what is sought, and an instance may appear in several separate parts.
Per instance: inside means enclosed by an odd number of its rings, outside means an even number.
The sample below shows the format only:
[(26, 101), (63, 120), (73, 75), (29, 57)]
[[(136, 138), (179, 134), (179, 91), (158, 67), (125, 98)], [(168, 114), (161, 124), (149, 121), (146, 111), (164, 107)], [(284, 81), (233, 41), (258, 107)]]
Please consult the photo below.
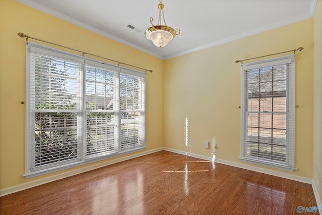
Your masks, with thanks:
[[(248, 155), (248, 81), (246, 71), (251, 69), (260, 69), (264, 67), (288, 65), (286, 75), (286, 146), (285, 146), (285, 162), (269, 161), (265, 158), (260, 158)], [(295, 55), (286, 55), (275, 57), (266, 60), (260, 60), (250, 63), (241, 64), (241, 110), (240, 110), (240, 160), (252, 164), (258, 164), (277, 169), (293, 171), (295, 159)], [(273, 97), (270, 97), (273, 98)], [(260, 151), (259, 151), (260, 152)]]

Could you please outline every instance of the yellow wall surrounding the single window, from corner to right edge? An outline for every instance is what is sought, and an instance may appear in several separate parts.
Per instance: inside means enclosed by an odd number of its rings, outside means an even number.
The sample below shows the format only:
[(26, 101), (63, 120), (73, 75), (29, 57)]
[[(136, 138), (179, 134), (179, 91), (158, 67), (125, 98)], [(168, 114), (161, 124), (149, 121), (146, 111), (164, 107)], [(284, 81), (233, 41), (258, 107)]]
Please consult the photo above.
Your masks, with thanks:
[[(240, 63), (234, 61), (299, 46), (304, 50), (296, 54), (296, 104), (299, 108), (295, 113), (295, 167), (298, 170), (291, 174), (312, 178), (313, 18), (166, 60), (165, 147), (210, 157), (212, 144), (210, 149), (205, 149), (204, 142), (216, 141), (217, 159), (243, 163), (238, 159)], [(184, 142), (186, 117), (188, 146)]]

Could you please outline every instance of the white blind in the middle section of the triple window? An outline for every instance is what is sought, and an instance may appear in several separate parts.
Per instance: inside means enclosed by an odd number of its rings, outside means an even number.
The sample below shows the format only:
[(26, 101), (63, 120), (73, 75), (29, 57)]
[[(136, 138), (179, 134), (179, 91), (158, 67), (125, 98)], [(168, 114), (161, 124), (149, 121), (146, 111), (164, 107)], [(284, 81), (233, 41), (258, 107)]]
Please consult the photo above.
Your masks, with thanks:
[(86, 156), (118, 152), (118, 73), (86, 63)]

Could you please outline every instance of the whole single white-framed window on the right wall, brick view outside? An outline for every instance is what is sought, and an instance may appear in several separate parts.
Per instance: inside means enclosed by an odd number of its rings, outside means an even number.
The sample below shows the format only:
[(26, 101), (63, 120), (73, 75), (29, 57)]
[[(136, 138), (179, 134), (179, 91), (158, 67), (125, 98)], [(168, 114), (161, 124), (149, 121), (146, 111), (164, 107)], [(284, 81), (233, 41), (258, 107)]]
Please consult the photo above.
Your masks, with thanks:
[(293, 171), (294, 55), (241, 65), (241, 160)]

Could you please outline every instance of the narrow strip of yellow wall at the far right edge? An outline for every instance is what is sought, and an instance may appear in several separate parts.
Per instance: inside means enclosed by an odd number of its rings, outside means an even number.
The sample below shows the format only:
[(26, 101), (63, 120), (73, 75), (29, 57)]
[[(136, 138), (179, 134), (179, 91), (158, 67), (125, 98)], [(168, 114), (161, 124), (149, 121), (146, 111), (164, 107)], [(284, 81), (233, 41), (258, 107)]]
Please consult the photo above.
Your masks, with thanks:
[(322, 0), (314, 14), (314, 184), (322, 200)]

